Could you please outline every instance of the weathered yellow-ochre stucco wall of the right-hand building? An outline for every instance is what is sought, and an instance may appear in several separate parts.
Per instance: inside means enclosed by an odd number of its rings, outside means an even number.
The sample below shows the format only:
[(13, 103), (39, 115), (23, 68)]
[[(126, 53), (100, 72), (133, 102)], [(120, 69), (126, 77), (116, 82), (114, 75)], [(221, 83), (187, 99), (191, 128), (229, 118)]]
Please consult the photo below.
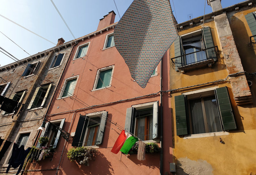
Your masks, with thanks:
[[(243, 68), (247, 72), (255, 72), (255, 51), (248, 45), (250, 29), (244, 15), (255, 11), (255, 8), (227, 13), (230, 28), (237, 46), (237, 51), (241, 58)], [(218, 45), (219, 50), (223, 48), (214, 21), (204, 24), (211, 27), (213, 41)], [(180, 35), (202, 28), (202, 25), (191, 27), (180, 31)], [(170, 48), (170, 58), (174, 56), (174, 45)], [(174, 69), (170, 69), (170, 89), (176, 89), (196, 84), (207, 83), (228, 75), (226, 61), (223, 52), (220, 52), (218, 61), (212, 68), (199, 68), (181, 74)], [(176, 162), (177, 174), (250, 174), (256, 173), (255, 135), (256, 135), (256, 98), (255, 98), (255, 76), (247, 76), (247, 80), (253, 82), (250, 91), (253, 103), (248, 105), (236, 105), (230, 79), (227, 81), (198, 85), (194, 88), (185, 88), (174, 91), (170, 94), (172, 104), (172, 128), (173, 128), (173, 159)], [(186, 138), (176, 135), (175, 102), (174, 96), (181, 93), (195, 91), (209, 87), (228, 87), (228, 92), (235, 116), (237, 130), (223, 132), (221, 135)], [(201, 135), (203, 136), (203, 135)], [(225, 144), (220, 143), (220, 138)]]

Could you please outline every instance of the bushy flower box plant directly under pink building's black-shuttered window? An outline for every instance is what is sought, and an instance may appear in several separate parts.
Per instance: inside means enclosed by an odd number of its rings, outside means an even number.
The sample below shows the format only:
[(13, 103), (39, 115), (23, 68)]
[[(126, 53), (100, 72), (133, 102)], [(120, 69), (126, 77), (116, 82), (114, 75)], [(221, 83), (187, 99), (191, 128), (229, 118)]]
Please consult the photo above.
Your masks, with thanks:
[(93, 147), (73, 147), (68, 150), (68, 159), (76, 161), (79, 164), (89, 166), (89, 160), (92, 160), (99, 151)]

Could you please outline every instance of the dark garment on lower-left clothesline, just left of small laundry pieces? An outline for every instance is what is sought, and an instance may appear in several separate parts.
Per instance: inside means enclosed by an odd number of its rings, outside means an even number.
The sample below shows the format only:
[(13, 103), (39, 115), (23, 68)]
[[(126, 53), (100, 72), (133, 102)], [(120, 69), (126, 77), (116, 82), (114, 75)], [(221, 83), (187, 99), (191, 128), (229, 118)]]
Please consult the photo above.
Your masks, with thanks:
[(26, 150), (24, 150), (24, 145), (21, 145), (19, 147), (18, 144), (14, 143), (12, 148), (12, 156), (10, 158), (10, 164), (6, 169), (6, 173), (8, 173), (11, 166), (13, 168), (18, 168), (18, 166), (20, 166), (16, 175), (19, 174), (30, 150), (31, 150), (31, 147), (28, 147)]

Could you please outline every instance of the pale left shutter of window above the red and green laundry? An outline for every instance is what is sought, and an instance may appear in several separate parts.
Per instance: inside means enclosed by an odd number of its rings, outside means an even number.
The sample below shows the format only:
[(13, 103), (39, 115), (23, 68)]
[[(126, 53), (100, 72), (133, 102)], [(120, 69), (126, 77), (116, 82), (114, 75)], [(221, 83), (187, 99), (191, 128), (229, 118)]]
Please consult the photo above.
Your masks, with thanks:
[(124, 129), (128, 133), (134, 134), (135, 115), (136, 109), (134, 107), (127, 108)]

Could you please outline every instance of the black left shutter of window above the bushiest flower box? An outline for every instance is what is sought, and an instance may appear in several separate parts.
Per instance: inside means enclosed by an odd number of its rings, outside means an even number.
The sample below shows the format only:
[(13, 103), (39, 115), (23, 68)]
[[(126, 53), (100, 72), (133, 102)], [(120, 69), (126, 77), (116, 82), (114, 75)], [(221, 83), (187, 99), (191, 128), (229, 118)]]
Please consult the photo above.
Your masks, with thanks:
[(79, 142), (84, 141), (84, 138), (81, 138), (81, 135), (82, 135), (82, 131), (83, 131), (84, 127), (85, 127), (84, 129), (86, 130), (87, 123), (88, 123), (88, 119), (85, 120), (85, 116), (80, 115), (77, 126), (76, 126), (75, 136), (74, 136), (73, 142), (72, 142), (73, 147), (78, 147)]

